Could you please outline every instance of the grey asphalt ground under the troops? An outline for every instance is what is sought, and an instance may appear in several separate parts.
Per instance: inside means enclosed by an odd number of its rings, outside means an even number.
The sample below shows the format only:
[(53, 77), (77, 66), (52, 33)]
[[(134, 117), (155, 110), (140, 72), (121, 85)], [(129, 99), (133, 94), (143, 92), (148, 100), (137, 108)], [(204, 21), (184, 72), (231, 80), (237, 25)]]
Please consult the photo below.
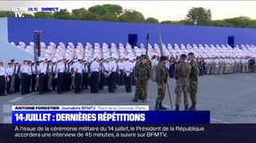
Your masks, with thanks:
[[(172, 104), (175, 104), (175, 80), (171, 80)], [(133, 92), (135, 87), (133, 87)], [(157, 86), (149, 82), (148, 101), (133, 103), (134, 93), (125, 93), (119, 87), (117, 93), (108, 93), (107, 87), (98, 94), (85, 90), (82, 94), (74, 91), (57, 95), (32, 93), (0, 97), (0, 123), (12, 122), (12, 105), (149, 105), (154, 110)], [(228, 75), (207, 75), (199, 78), (198, 110), (209, 110), (211, 123), (256, 123), (256, 73), (235, 73)], [(182, 103), (182, 102), (181, 102)], [(163, 105), (169, 107), (167, 91)], [(181, 109), (183, 109), (183, 105)]]

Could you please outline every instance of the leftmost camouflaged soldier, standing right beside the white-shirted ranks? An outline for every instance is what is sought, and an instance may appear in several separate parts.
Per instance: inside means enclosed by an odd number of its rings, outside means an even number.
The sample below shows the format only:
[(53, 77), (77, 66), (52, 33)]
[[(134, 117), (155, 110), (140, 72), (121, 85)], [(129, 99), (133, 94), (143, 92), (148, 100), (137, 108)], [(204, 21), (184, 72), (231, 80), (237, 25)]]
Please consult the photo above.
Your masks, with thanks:
[(151, 67), (148, 63), (147, 57), (142, 56), (141, 61), (137, 63), (135, 67), (136, 78), (136, 93), (132, 101), (137, 102), (138, 99), (143, 101), (147, 97), (147, 81), (151, 76)]

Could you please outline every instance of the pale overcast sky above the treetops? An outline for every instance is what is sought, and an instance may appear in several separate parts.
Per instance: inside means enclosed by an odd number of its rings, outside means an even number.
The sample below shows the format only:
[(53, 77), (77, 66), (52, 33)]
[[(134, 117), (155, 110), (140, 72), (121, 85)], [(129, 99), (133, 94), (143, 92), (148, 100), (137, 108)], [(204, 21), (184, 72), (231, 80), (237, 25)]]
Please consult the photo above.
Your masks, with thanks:
[(50, 6), (72, 9), (88, 8), (95, 4), (119, 4), (125, 9), (134, 9), (147, 17), (159, 21), (183, 20), (191, 7), (210, 9), (213, 20), (237, 16), (248, 16), (256, 20), (256, 1), (0, 1), (0, 10), (11, 10), (13, 6)]

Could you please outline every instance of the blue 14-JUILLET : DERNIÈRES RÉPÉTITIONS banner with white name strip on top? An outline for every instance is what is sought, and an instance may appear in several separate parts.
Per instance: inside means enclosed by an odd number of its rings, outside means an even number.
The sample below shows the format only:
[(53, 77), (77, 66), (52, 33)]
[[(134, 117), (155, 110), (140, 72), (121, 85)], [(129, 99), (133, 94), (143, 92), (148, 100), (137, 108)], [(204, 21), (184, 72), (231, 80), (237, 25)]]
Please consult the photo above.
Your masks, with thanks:
[(209, 112), (149, 111), (148, 105), (13, 105), (13, 123), (209, 123)]

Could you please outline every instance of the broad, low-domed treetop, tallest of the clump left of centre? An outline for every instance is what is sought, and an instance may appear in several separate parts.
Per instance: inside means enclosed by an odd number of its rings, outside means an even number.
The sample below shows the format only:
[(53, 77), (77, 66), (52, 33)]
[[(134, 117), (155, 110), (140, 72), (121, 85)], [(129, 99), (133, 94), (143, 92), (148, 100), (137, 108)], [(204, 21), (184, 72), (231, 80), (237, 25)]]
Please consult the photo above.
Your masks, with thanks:
[(90, 7), (88, 11), (99, 15), (114, 14), (119, 16), (121, 13), (123, 13), (123, 8), (118, 4), (102, 4), (94, 5)]

